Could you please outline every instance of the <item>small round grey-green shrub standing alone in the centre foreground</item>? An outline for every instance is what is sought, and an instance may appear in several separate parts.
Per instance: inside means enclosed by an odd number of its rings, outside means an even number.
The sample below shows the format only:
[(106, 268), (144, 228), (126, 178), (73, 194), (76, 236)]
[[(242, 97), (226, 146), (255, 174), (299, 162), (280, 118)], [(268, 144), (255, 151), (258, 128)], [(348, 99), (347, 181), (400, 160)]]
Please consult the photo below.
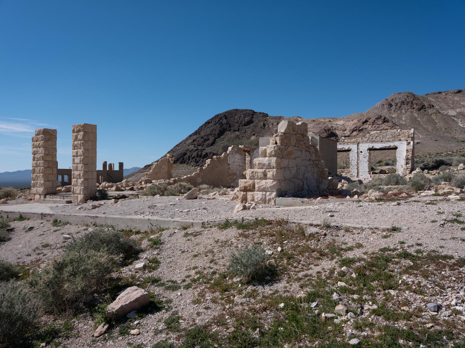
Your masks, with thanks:
[(268, 255), (261, 246), (239, 248), (229, 257), (229, 270), (244, 278), (245, 282), (262, 280), (269, 273)]

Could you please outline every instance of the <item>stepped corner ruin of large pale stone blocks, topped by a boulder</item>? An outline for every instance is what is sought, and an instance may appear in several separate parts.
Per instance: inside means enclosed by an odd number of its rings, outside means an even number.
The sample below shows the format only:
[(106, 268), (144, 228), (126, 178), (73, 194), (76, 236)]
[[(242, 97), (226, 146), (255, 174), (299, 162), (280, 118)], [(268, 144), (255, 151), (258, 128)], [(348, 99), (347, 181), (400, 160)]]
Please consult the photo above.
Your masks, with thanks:
[[(337, 187), (305, 122), (282, 121), (270, 145), (260, 147), (260, 157), (246, 179), (239, 180), (239, 202), (276, 204), (280, 196), (324, 195)], [(336, 184), (336, 185), (335, 185)], [(336, 187), (335, 187), (336, 186)]]

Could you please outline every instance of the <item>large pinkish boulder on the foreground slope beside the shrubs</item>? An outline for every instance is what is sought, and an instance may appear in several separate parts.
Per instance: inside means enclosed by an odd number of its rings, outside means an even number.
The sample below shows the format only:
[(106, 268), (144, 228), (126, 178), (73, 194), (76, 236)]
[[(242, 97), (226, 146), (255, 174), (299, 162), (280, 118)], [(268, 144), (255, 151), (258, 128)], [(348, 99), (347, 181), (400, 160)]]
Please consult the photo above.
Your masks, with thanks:
[(137, 286), (131, 286), (124, 290), (108, 307), (106, 317), (113, 319), (126, 316), (133, 310), (140, 309), (149, 303), (149, 294), (146, 290)]

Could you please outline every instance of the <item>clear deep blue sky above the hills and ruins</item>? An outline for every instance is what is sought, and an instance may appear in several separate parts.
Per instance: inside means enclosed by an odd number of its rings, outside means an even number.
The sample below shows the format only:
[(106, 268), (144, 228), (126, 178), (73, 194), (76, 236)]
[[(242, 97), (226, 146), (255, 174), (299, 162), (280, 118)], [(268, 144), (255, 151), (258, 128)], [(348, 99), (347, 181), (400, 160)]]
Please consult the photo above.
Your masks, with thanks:
[[(33, 129), (98, 125), (98, 163), (142, 167), (208, 118), (346, 116), (465, 87), (461, 1), (0, 0), (0, 172)], [(100, 164), (98, 165), (100, 167)]]

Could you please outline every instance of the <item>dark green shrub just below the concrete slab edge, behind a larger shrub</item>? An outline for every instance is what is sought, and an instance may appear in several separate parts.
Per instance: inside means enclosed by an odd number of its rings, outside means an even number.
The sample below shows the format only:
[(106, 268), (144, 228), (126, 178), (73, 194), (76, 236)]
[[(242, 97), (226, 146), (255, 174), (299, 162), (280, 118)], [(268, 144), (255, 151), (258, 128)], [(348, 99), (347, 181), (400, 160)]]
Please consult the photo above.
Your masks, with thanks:
[(126, 238), (112, 227), (94, 227), (92, 231), (66, 245), (65, 253), (72, 251), (102, 251), (109, 255), (128, 258), (140, 251), (134, 239)]

